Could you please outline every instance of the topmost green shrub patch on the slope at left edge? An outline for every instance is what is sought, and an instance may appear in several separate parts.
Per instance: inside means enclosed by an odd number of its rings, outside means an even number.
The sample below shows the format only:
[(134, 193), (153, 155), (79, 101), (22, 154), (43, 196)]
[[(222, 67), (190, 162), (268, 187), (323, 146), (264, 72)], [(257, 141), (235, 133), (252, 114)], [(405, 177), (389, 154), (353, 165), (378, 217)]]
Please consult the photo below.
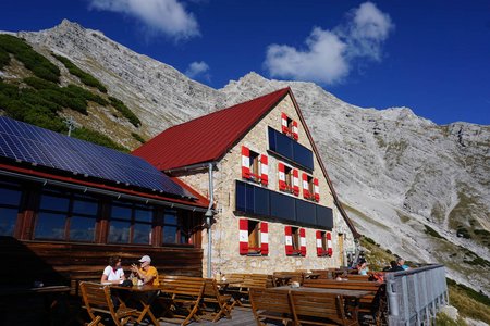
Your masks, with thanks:
[[(36, 52), (24, 40), (12, 35), (1, 34), (0, 48), (3, 50), (3, 52), (13, 54), (16, 60), (22, 62), (24, 66), (32, 71), (33, 74), (37, 77), (53, 83), (60, 82), (60, 70), (46, 57)], [(5, 60), (3, 62), (5, 62)], [(10, 59), (7, 61), (7, 63), (9, 62)]]

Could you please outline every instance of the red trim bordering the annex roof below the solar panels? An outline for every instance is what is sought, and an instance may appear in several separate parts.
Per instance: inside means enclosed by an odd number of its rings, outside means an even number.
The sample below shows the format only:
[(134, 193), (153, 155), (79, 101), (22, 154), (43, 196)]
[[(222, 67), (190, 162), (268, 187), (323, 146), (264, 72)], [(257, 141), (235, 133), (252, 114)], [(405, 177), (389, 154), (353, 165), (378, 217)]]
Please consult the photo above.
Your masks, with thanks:
[(136, 191), (136, 190), (131, 190), (131, 189), (125, 189), (125, 188), (108, 186), (108, 185), (99, 184), (99, 183), (95, 183), (95, 181), (79, 180), (79, 179), (72, 178), (72, 177), (59, 176), (59, 175), (54, 175), (54, 174), (51, 174), (51, 173), (45, 173), (45, 172), (34, 171), (34, 170), (30, 170), (30, 168), (12, 166), (12, 165), (1, 164), (1, 163), (0, 163), (0, 168), (8, 170), (8, 171), (13, 171), (13, 172), (19, 172), (19, 173), (23, 173), (23, 174), (27, 174), (27, 175), (33, 175), (33, 176), (37, 176), (37, 177), (42, 177), (42, 178), (50, 178), (50, 179), (53, 179), (53, 180), (65, 181), (65, 183), (70, 183), (70, 184), (76, 184), (76, 185), (86, 186), (86, 187), (94, 187), (94, 188), (100, 188), (100, 189), (106, 189), (106, 190), (111, 190), (111, 191), (124, 192), (124, 193), (127, 193), (127, 195), (139, 196), (139, 197), (144, 197), (144, 198), (148, 198), (148, 199), (164, 200), (164, 201), (182, 203), (182, 204), (186, 204), (186, 205), (191, 205), (191, 206), (197, 206), (197, 208), (208, 208), (209, 206), (209, 200), (208, 199), (206, 199), (205, 197), (199, 195), (196, 190), (194, 190), (193, 188), (191, 188), (188, 185), (184, 184), (182, 180), (180, 180), (176, 177), (171, 177), (171, 179), (173, 181), (175, 181), (176, 184), (179, 184), (180, 186), (182, 186), (183, 188), (187, 189), (193, 196), (195, 196), (197, 198), (196, 201), (185, 201), (185, 200), (182, 200), (182, 199), (175, 199), (175, 198), (169, 198), (169, 197), (164, 197), (164, 196), (151, 195), (151, 193), (147, 193), (147, 192), (142, 192), (142, 191)]

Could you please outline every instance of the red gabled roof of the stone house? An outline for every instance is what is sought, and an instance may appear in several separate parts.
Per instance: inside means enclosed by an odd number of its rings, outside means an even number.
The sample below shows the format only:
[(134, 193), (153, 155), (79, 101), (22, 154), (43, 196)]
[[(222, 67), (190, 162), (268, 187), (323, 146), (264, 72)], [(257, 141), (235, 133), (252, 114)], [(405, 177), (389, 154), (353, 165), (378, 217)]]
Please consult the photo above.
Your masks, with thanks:
[(283, 88), (171, 127), (133, 154), (160, 171), (217, 161), (290, 91)]

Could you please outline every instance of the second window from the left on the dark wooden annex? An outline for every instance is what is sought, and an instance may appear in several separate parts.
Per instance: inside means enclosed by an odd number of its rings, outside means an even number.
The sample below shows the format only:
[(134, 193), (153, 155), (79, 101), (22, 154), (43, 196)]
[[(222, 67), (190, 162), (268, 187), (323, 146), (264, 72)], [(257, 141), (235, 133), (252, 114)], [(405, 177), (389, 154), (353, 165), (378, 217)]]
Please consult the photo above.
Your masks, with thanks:
[(98, 206), (89, 196), (46, 189), (40, 197), (34, 238), (93, 242)]

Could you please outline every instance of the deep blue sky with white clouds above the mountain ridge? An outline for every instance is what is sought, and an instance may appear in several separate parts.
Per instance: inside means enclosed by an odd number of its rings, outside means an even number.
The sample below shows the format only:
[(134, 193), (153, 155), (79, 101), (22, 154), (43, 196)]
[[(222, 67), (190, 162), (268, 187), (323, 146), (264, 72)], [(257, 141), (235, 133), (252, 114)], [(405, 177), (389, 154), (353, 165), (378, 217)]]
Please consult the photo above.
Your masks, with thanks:
[(63, 18), (213, 88), (250, 71), (364, 108), (490, 125), (490, 1), (15, 0), (1, 30)]

